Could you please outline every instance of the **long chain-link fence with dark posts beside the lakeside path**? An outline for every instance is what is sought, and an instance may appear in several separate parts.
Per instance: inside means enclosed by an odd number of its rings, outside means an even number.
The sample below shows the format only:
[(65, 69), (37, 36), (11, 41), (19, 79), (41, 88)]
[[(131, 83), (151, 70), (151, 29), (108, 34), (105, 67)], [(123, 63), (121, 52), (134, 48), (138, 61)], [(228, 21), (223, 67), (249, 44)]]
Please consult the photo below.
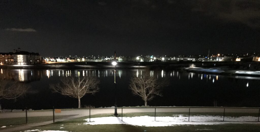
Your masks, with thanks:
[[(99, 122), (113, 124), (136, 121), (161, 122), (259, 122), (260, 108), (246, 107), (118, 107), (47, 110), (2, 110), (1, 126), (37, 122)], [(77, 120), (77, 121), (76, 121)]]

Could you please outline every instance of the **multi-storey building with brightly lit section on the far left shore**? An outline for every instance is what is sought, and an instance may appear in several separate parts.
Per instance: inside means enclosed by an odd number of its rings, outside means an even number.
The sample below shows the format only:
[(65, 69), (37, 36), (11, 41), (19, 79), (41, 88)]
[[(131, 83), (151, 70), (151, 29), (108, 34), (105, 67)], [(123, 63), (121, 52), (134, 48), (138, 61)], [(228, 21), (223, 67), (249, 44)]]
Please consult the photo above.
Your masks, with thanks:
[(21, 51), (20, 48), (9, 53), (0, 53), (1, 64), (33, 65), (41, 62), (39, 53)]

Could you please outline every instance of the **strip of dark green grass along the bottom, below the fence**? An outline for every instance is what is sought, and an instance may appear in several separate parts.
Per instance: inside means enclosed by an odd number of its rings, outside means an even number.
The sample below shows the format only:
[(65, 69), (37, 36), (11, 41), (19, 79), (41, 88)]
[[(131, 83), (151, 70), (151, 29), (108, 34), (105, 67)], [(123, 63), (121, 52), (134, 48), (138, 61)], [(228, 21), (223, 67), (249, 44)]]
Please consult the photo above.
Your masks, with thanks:
[[(83, 132), (83, 131), (95, 131), (95, 132), (113, 132), (113, 131), (124, 131), (124, 132), (138, 132), (138, 131), (146, 131), (146, 132), (158, 132), (158, 131), (177, 131), (177, 132), (185, 132), (185, 131), (223, 131), (223, 132), (256, 132), (260, 131), (260, 124), (223, 124), (223, 125), (182, 125), (182, 126), (168, 126), (168, 127), (136, 127), (126, 124), (105, 124), (105, 125), (76, 125), (70, 124), (60, 126), (60, 124), (49, 124), (46, 126), (33, 127), (29, 129), (19, 130), (62, 130), (62, 131), (73, 131), (73, 132)], [(61, 128), (63, 127), (63, 128)]]

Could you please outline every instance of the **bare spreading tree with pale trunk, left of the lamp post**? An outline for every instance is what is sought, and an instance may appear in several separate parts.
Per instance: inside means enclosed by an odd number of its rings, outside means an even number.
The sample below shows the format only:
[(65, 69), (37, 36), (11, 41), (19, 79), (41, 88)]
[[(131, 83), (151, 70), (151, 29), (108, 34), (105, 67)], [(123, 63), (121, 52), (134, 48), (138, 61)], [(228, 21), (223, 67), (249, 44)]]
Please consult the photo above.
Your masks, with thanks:
[(54, 92), (62, 95), (68, 95), (79, 100), (78, 108), (80, 108), (80, 99), (85, 94), (95, 94), (99, 91), (99, 80), (94, 77), (67, 77), (61, 78), (61, 83), (50, 85)]

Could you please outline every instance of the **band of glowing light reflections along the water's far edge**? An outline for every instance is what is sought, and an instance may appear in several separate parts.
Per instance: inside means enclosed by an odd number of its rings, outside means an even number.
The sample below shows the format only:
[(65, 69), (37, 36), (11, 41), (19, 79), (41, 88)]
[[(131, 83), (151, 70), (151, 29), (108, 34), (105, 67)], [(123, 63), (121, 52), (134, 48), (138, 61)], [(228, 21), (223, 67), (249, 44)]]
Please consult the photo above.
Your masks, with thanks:
[[(65, 72), (64, 72), (65, 71)], [(142, 73), (144, 70), (142, 69), (136, 69), (136, 70), (128, 70), (132, 71), (132, 73), (135, 73), (136, 77), (142, 77)], [(91, 73), (91, 74), (90, 74)], [(111, 69), (78, 69), (74, 70), (74, 74), (71, 72), (71, 70), (60, 70), (60, 69), (52, 69), (52, 70), (32, 70), (32, 69), (1, 69), (0, 78), (5, 79), (13, 79), (16, 81), (35, 81), (40, 80), (44, 77), (47, 77), (48, 79), (51, 79), (53, 77), (88, 77), (88, 76), (94, 76), (97, 78), (106, 78), (106, 77), (113, 77), (114, 76), (114, 70)], [(183, 76), (182, 79), (192, 80), (194, 79), (193, 75), (197, 74), (198, 78), (200, 80), (210, 80), (209, 82), (215, 83), (220, 78), (236, 78), (236, 79), (247, 79), (247, 80), (260, 80), (259, 77), (245, 77), (245, 76), (223, 76), (223, 75), (212, 75), (212, 74), (200, 74), (200, 73), (187, 73), (185, 71), (177, 71), (177, 76), (174, 76), (175, 70), (161, 70), (161, 75), (157, 78), (175, 78), (177, 77), (178, 80), (181, 80), (180, 76)], [(154, 76), (154, 70), (149, 71), (150, 77)], [(122, 77), (131, 76), (129, 74), (126, 74), (125, 69), (117, 69), (116, 75), (121, 79)], [(30, 77), (29, 77), (30, 76)], [(246, 87), (248, 87), (249, 84), (247, 82)]]

